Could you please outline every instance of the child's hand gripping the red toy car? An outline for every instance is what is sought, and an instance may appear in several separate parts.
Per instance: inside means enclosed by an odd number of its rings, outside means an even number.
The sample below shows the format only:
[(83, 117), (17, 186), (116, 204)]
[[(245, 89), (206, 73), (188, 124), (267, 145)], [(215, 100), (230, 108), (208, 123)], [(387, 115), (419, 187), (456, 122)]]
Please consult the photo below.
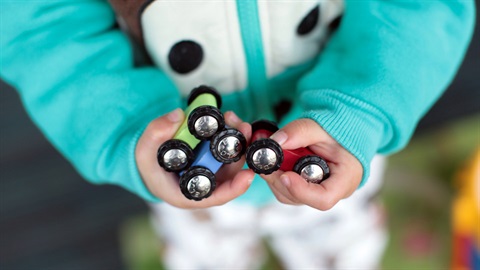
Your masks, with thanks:
[(330, 177), (321, 184), (309, 183), (295, 172), (261, 175), (280, 202), (328, 210), (349, 197), (360, 184), (363, 175), (360, 162), (313, 120), (293, 121), (271, 138), (284, 149), (308, 147), (330, 166)]

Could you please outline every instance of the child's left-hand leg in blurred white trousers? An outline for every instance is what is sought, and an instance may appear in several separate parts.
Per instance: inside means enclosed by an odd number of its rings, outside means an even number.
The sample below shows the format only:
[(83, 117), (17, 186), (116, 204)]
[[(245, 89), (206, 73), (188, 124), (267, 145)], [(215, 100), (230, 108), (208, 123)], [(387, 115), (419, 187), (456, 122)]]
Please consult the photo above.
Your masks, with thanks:
[(162, 203), (151, 209), (167, 269), (258, 269), (264, 260), (256, 207), (182, 210)]

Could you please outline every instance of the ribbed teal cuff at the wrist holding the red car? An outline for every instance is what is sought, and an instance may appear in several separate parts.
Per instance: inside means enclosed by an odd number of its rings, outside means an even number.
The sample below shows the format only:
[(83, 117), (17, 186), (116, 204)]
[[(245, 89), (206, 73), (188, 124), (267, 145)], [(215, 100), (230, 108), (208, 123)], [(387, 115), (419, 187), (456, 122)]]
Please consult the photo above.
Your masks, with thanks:
[(389, 120), (377, 108), (335, 90), (305, 91), (300, 99), (306, 109), (301, 117), (317, 122), (360, 161), (363, 186), (379, 143), (393, 135), (385, 124)]

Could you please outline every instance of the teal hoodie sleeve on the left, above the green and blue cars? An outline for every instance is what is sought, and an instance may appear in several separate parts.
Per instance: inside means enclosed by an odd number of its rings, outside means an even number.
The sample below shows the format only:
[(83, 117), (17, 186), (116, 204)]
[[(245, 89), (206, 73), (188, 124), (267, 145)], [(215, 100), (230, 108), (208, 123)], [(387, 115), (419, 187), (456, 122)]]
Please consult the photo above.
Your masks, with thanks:
[(0, 74), (55, 147), (93, 183), (158, 201), (137, 171), (146, 125), (180, 106), (155, 68), (133, 66), (106, 1), (2, 1)]

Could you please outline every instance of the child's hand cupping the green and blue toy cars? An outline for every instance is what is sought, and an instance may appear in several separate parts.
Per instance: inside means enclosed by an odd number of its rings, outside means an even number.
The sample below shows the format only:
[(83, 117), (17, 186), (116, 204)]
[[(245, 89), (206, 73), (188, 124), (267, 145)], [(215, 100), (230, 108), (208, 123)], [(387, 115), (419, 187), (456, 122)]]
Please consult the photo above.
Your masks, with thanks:
[[(143, 181), (148, 189), (163, 201), (180, 208), (204, 208), (225, 204), (242, 195), (250, 186), (254, 173), (242, 170), (245, 157), (234, 164), (224, 165), (216, 174), (217, 187), (212, 195), (202, 201), (192, 201), (182, 194), (176, 173), (163, 170), (157, 162), (158, 147), (173, 138), (185, 115), (177, 109), (153, 120), (138, 141), (135, 157)], [(252, 129), (233, 112), (225, 113), (228, 126), (238, 129), (250, 140)]]

